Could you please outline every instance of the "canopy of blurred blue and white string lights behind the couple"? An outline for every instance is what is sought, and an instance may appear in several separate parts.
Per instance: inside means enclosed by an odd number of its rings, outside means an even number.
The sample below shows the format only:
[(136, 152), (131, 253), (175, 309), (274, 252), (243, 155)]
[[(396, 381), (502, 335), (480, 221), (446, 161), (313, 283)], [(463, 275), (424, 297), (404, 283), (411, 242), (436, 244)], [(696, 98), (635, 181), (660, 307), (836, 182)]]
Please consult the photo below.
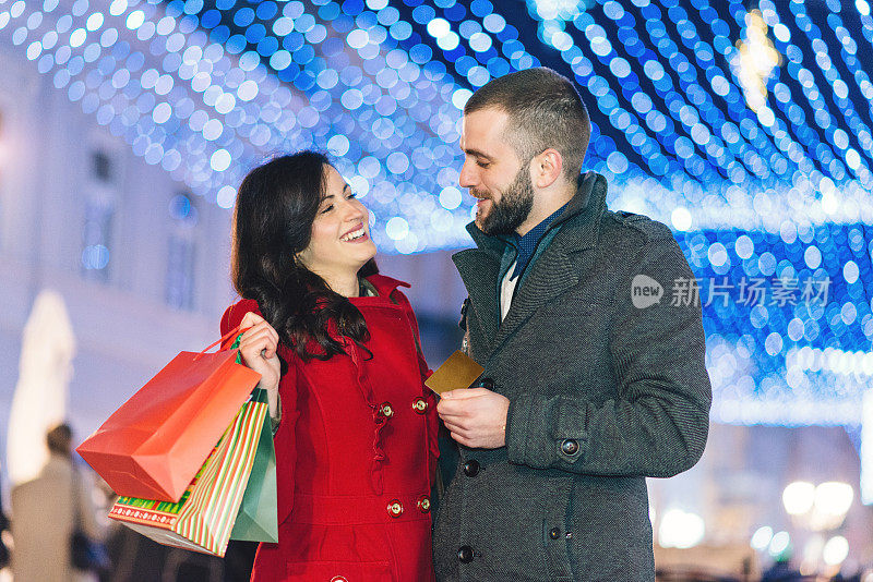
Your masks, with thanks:
[[(582, 87), (586, 168), (610, 180), (611, 207), (670, 225), (701, 282), (714, 420), (857, 427), (873, 378), (870, 12), (865, 0), (0, 0), (0, 35), (223, 208), (272, 154), (327, 150), (380, 248), (403, 254), (469, 244), (457, 142), (471, 92), (552, 66)], [(101, 251), (83, 260), (99, 269)], [(752, 279), (766, 295), (744, 304)], [(794, 301), (779, 300), (792, 281)], [(826, 298), (804, 301), (806, 281), (827, 281)], [(729, 296), (710, 302), (714, 282)]]

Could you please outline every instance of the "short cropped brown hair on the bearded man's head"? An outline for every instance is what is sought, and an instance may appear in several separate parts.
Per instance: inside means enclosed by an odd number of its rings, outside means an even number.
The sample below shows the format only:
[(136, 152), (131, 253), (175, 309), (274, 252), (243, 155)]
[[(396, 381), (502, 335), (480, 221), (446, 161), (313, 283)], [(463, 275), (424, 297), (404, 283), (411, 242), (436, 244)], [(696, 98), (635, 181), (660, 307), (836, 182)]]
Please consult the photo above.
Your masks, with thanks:
[(464, 114), (492, 107), (509, 114), (506, 138), (522, 161), (554, 148), (563, 158), (564, 175), (575, 183), (591, 129), (569, 78), (545, 66), (510, 73), (474, 93)]

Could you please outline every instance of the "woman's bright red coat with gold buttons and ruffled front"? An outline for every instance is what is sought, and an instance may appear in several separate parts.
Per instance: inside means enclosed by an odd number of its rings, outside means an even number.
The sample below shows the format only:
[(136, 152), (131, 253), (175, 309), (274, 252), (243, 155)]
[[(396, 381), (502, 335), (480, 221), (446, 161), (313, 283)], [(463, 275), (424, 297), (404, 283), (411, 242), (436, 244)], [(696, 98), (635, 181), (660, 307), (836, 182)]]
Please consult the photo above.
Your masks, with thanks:
[[(418, 582), (434, 579), (430, 489), (436, 402), (406, 283), (374, 275), (379, 296), (351, 298), (370, 331), (369, 354), (303, 362), (287, 345), (275, 436), (279, 543), (261, 544), (252, 580)], [(222, 335), (256, 302), (222, 318)]]

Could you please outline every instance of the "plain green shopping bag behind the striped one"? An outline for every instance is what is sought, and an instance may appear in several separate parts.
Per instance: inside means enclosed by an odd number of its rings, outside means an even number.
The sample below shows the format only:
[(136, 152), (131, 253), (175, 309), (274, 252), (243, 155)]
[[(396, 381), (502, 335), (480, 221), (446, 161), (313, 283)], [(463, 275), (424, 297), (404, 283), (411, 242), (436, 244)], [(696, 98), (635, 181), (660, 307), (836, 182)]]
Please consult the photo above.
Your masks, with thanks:
[[(266, 404), (266, 390), (254, 390), (251, 401)], [(277, 543), (279, 541), (277, 512), (276, 451), (267, 416), (261, 427), (252, 474), (246, 486), (230, 539)]]

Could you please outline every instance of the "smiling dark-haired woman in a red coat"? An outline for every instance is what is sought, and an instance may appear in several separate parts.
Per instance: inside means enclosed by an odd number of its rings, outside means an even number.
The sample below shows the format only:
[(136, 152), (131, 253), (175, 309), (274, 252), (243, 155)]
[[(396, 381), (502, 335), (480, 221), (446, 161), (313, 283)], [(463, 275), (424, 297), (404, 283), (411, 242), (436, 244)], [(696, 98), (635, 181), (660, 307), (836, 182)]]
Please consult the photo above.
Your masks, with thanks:
[[(406, 283), (376, 274), (368, 211), (315, 153), (252, 170), (234, 216), (243, 298), (222, 334), (262, 375), (276, 444), (278, 544), (252, 580), (433, 580), (435, 402)], [(276, 424), (277, 423), (277, 424)]]

